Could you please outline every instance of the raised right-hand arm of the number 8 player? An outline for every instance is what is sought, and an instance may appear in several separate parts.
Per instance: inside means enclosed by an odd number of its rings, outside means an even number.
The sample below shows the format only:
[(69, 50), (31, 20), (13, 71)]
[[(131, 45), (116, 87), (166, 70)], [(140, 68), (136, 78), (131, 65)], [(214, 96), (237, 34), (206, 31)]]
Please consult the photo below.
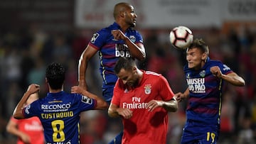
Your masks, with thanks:
[(95, 109), (99, 109), (99, 110), (107, 109), (108, 104), (104, 99), (100, 98), (100, 96), (97, 96), (95, 94), (88, 92), (87, 90), (83, 89), (80, 86), (71, 87), (71, 93), (82, 94), (84, 96), (89, 97), (90, 99), (95, 99), (97, 101), (97, 106), (95, 107)]

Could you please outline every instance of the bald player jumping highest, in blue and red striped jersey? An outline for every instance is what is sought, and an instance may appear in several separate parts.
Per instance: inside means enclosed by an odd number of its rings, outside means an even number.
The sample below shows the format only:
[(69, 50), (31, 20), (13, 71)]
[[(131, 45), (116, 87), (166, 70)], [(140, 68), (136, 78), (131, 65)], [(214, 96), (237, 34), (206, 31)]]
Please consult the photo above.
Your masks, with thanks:
[(144, 60), (146, 57), (142, 35), (134, 30), (136, 18), (137, 15), (131, 4), (116, 4), (114, 6), (114, 23), (94, 33), (80, 57), (79, 85), (87, 89), (85, 80), (87, 64), (92, 56), (98, 52), (102, 76), (102, 96), (106, 101), (111, 101), (113, 87), (117, 81), (114, 65), (118, 57), (134, 57), (137, 60)]

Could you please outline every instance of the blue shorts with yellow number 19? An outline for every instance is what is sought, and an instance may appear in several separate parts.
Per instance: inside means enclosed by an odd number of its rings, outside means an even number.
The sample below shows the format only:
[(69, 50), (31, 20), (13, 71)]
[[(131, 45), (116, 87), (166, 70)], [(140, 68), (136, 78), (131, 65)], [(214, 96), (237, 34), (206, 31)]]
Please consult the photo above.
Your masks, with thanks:
[(181, 144), (215, 144), (219, 136), (220, 126), (186, 121), (181, 137)]

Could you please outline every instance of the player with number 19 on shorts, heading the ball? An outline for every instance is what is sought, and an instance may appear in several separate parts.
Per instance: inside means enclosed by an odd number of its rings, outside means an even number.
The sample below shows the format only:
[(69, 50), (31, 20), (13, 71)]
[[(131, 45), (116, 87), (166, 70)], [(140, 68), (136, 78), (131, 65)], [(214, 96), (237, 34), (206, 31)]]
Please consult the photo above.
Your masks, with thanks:
[(216, 143), (220, 130), (223, 82), (245, 86), (242, 77), (222, 62), (210, 60), (208, 55), (208, 45), (199, 39), (193, 40), (186, 50), (184, 72), (188, 89), (176, 94), (178, 101), (188, 98), (182, 144)]

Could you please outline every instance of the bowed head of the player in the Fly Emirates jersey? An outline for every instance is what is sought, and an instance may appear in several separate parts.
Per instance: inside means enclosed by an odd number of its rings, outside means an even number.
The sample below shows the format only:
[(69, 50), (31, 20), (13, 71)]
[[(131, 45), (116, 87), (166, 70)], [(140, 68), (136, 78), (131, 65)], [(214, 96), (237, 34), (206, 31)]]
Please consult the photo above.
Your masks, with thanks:
[(135, 86), (139, 82), (136, 62), (130, 57), (120, 57), (114, 66), (114, 72), (124, 84)]

